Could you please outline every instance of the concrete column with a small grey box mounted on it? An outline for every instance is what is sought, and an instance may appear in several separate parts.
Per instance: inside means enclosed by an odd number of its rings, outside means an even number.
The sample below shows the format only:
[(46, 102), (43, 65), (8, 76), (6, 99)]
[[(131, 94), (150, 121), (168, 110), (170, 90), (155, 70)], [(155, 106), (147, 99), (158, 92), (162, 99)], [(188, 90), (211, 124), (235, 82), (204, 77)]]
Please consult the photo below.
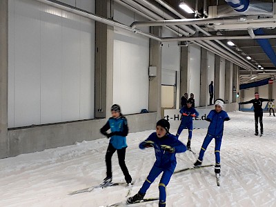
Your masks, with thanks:
[[(161, 37), (161, 27), (151, 27), (150, 33)], [(157, 76), (150, 77), (148, 108), (157, 112), (157, 119), (161, 118), (161, 43), (150, 39), (150, 66), (157, 67)]]

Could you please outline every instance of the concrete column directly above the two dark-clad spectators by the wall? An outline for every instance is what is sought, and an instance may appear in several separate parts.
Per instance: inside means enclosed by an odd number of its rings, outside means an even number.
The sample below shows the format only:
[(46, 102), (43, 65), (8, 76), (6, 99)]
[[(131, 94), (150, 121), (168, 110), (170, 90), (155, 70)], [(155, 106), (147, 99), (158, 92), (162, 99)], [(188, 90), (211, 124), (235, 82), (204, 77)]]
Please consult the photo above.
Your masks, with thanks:
[(189, 91), (188, 85), (188, 47), (181, 47), (180, 54), (180, 90), (179, 97), (181, 99), (185, 92)]

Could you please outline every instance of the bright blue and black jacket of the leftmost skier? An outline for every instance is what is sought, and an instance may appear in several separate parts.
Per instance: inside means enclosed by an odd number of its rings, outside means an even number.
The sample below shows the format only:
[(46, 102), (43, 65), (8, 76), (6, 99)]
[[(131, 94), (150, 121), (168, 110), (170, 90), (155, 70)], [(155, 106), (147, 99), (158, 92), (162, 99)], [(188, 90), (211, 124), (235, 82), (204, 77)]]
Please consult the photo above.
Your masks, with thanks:
[[(106, 133), (107, 130), (111, 130), (111, 133)], [(110, 138), (110, 144), (119, 150), (126, 148), (126, 136), (128, 135), (128, 121), (126, 117), (118, 117), (117, 119), (110, 117), (106, 124), (101, 128), (101, 134), (106, 135)]]

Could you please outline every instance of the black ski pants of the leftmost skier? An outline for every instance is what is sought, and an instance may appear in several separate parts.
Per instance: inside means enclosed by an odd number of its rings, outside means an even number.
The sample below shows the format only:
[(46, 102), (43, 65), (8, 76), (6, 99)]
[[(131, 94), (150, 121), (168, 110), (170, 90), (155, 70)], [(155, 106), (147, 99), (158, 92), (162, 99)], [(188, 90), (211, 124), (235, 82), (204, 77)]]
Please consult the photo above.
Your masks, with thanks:
[[(106, 150), (106, 176), (107, 177), (112, 177), (112, 166), (111, 166), (111, 158), (114, 152), (117, 149), (115, 149), (112, 144), (108, 145), (108, 150)], [(131, 179), (128, 168), (126, 168), (126, 163), (125, 163), (125, 157), (126, 157), (126, 148), (121, 148), (117, 150), (117, 155), (119, 159), (119, 166), (121, 167), (121, 170), (124, 173), (125, 179)]]

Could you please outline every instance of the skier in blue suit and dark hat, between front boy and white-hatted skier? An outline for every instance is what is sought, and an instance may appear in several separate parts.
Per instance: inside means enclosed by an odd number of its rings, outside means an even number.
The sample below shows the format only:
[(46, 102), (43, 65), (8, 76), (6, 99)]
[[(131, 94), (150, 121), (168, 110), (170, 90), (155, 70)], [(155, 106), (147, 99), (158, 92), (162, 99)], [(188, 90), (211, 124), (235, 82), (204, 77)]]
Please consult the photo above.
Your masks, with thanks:
[(186, 103), (187, 106), (184, 106), (179, 111), (181, 113), (181, 123), (179, 125), (179, 128), (177, 130), (177, 135), (175, 135), (177, 138), (181, 134), (182, 130), (185, 128), (188, 129), (188, 142), (187, 142), (187, 148), (190, 150), (190, 140), (192, 139), (193, 134), (193, 117), (198, 117), (199, 113), (195, 108), (192, 107), (192, 101), (188, 100)]

